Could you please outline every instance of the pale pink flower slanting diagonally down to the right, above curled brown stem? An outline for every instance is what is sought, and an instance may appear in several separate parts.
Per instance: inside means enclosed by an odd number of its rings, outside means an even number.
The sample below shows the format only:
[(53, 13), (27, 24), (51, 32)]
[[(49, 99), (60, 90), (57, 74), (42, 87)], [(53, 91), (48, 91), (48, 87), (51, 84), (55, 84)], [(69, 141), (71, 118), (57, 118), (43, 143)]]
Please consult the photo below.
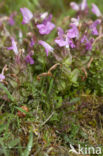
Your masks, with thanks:
[(54, 49), (45, 41), (39, 40), (38, 43), (45, 48), (47, 56), (48, 56), (49, 52), (53, 52)]

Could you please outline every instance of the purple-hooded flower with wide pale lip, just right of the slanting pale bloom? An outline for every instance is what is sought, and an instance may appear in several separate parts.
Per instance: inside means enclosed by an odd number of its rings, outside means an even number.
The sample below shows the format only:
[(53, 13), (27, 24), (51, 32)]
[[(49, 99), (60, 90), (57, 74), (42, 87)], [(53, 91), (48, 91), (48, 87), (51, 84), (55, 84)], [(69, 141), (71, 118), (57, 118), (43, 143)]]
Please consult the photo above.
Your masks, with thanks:
[(64, 31), (60, 27), (58, 27), (58, 37), (55, 39), (55, 42), (59, 45), (59, 47), (64, 47), (68, 45), (68, 42), (64, 35)]

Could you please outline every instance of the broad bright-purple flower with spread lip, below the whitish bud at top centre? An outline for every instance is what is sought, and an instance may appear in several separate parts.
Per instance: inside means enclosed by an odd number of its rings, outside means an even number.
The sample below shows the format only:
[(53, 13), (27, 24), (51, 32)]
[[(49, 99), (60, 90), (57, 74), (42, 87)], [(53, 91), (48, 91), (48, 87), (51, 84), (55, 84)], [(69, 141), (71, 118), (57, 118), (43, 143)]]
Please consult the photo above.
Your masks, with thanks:
[(48, 35), (55, 28), (55, 24), (51, 22), (51, 18), (52, 16), (50, 15), (49, 18), (44, 19), (42, 24), (37, 24), (41, 35)]

